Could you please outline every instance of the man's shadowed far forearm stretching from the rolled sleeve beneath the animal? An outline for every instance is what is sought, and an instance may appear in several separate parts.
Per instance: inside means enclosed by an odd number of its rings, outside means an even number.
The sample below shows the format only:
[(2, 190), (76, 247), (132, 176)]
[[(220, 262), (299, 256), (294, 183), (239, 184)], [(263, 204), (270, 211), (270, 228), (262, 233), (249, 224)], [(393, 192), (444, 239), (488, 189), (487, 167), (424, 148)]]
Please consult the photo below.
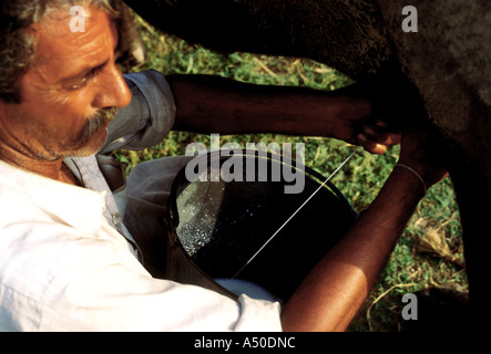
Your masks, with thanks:
[(368, 102), (340, 92), (266, 86), (206, 75), (170, 75), (176, 102), (174, 129), (203, 134), (277, 133), (336, 137)]

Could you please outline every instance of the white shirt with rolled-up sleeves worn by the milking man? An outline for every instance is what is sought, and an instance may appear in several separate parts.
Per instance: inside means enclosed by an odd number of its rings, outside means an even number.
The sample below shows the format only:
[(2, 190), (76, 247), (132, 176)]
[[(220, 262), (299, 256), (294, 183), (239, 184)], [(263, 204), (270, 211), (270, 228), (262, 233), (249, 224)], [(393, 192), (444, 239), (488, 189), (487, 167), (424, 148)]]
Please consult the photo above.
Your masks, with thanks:
[[(151, 122), (146, 132), (164, 134), (170, 125), (165, 119), (172, 123), (162, 108), (170, 105), (168, 92), (164, 87), (157, 94), (147, 83), (166, 84), (156, 72), (132, 79), (139, 100), (123, 111), (129, 114), (123, 122), (140, 129), (143, 123), (131, 113), (135, 111), (142, 122)], [(162, 113), (155, 114), (157, 110)], [(123, 143), (144, 140), (133, 136)], [(94, 168), (95, 157), (67, 164), (88, 188), (0, 160), (0, 331), (282, 330), (277, 302), (246, 295), (235, 302), (200, 287), (152, 278)]]

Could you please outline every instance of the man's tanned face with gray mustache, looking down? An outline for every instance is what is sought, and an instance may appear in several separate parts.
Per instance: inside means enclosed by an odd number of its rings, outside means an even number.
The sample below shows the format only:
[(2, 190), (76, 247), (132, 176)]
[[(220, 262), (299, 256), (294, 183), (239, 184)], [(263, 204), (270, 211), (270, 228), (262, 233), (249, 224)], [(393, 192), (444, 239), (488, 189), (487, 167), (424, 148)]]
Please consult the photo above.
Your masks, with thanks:
[(69, 10), (57, 10), (33, 27), (34, 63), (20, 81), (21, 104), (0, 107), (0, 138), (27, 157), (95, 153), (115, 108), (131, 101), (114, 63), (114, 22), (96, 8), (85, 14), (85, 32), (70, 31)]

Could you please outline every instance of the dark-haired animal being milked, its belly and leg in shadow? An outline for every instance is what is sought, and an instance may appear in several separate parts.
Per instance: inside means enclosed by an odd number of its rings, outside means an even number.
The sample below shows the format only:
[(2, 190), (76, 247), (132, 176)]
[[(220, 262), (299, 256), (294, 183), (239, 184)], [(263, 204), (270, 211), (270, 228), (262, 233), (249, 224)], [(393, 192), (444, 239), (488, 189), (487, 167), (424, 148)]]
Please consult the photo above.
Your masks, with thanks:
[[(444, 138), (471, 302), (485, 301), (491, 215), (491, 2), (488, 0), (126, 0), (156, 28), (222, 52), (308, 58), (374, 87), (397, 118)], [(402, 28), (417, 10), (411, 24)], [(410, 13), (416, 15), (416, 13)], [(408, 23), (406, 23), (408, 24)], [(393, 111), (397, 108), (398, 111)], [(487, 305), (484, 305), (487, 308)], [(481, 308), (482, 309), (482, 308)]]

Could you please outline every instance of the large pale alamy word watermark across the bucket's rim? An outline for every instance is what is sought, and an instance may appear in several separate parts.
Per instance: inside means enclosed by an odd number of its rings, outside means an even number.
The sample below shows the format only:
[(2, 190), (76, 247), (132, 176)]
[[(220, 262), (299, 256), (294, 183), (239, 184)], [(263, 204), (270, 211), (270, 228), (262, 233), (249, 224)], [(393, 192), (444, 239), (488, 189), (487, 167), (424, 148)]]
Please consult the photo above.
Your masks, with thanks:
[[(254, 152), (258, 159), (245, 158), (244, 150)], [(203, 156), (209, 153), (211, 174), (207, 174), (208, 160)], [(268, 167), (267, 155), (274, 156), (274, 164)], [(186, 156), (195, 156), (187, 165), (185, 175), (190, 181), (285, 181), (285, 194), (299, 194), (305, 187), (305, 144), (295, 144), (295, 157), (291, 143), (247, 143), (245, 148), (238, 143), (219, 145), (219, 134), (211, 135), (211, 146), (192, 143), (186, 147)], [(231, 157), (221, 164), (221, 157)], [(232, 158), (233, 157), (233, 158)], [(245, 169), (245, 170), (244, 170)]]

